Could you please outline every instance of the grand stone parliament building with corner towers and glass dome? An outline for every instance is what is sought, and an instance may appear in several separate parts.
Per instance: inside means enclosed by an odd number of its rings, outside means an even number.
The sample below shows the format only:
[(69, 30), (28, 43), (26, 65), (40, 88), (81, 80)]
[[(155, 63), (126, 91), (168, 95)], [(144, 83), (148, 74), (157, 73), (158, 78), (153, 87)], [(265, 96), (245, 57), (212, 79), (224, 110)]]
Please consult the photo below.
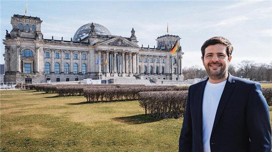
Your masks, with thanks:
[[(159, 36), (157, 46), (138, 45), (132, 28), (129, 38), (115, 36), (104, 26), (88, 23), (70, 41), (43, 39), (41, 19), (14, 15), (6, 31), (5, 82), (43, 83), (92, 79), (183, 80), (182, 55), (170, 50), (179, 36)], [(181, 47), (179, 47), (181, 48)], [(181, 50), (181, 49), (180, 49)], [(178, 56), (179, 57), (178, 57)]]

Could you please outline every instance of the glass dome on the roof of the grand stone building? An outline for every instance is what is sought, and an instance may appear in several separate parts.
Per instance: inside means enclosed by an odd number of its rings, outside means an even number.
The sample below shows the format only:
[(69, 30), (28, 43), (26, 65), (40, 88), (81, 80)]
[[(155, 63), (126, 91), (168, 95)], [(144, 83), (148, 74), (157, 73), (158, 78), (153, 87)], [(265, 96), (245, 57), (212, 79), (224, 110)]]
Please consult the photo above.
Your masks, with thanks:
[[(91, 24), (92, 23), (88, 23), (85, 24), (83, 26), (81, 26), (77, 32), (75, 33), (74, 37), (73, 37), (73, 41), (79, 41), (80, 38), (84, 39), (86, 37), (89, 36), (89, 33), (91, 31)], [(111, 35), (111, 33), (109, 32), (109, 30), (107, 28), (105, 28), (104, 26), (97, 24), (97, 23), (93, 23), (94, 27), (95, 27), (95, 33), (97, 35)]]

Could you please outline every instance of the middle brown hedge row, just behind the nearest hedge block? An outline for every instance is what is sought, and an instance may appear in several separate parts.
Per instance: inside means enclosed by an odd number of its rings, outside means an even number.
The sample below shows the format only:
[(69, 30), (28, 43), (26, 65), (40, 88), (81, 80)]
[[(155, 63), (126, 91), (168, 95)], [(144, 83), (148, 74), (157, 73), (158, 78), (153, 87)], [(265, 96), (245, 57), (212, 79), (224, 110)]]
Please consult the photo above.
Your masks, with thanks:
[(87, 88), (84, 89), (84, 97), (89, 102), (98, 101), (118, 101), (118, 100), (137, 100), (138, 93), (145, 91), (180, 91), (187, 90), (187, 86), (145, 86), (145, 87), (126, 87), (126, 88)]

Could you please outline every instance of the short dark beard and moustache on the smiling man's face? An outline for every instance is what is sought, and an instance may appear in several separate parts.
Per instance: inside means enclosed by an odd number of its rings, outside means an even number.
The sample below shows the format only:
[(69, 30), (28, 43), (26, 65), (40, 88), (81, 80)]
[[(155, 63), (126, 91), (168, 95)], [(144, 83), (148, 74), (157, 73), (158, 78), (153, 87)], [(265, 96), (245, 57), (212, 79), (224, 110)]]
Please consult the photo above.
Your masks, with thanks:
[[(212, 67), (210, 66), (211, 64), (213, 65), (219, 65), (220, 67), (218, 67), (217, 70), (213, 70)], [(223, 79), (225, 77), (225, 75), (228, 73), (227, 67), (226, 65), (224, 66), (223, 64), (217, 62), (211, 62), (208, 63), (208, 65), (205, 65), (205, 69), (208, 73), (208, 76), (213, 79), (213, 80), (220, 80)]]

